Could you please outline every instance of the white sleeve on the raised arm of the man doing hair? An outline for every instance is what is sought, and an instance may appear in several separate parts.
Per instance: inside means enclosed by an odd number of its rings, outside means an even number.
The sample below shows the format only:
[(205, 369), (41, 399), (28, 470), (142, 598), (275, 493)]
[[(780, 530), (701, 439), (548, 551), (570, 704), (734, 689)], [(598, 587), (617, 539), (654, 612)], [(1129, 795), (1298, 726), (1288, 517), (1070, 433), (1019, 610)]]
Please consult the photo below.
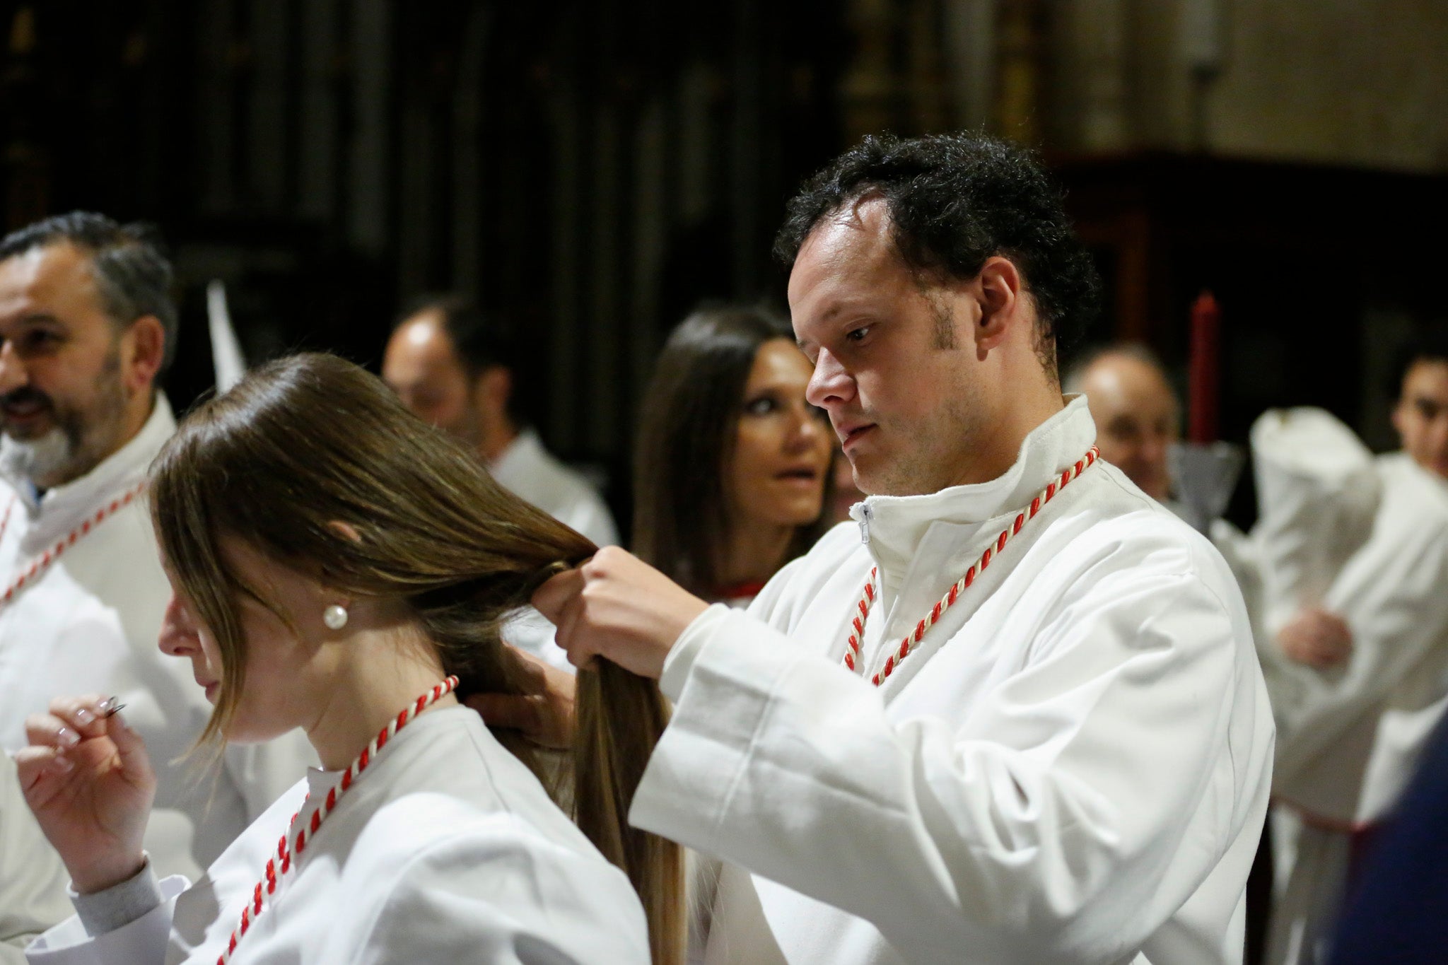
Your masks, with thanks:
[[(1226, 747), (1270, 723), (1234, 706), (1255, 661), (1199, 577), (1080, 583), (959, 728), (893, 719), (750, 615), (701, 618), (630, 822), (869, 920), (905, 961), (1121, 959), (1264, 800), (1221, 778), (1266, 775)], [(1213, 833), (1187, 839), (1202, 812)]]

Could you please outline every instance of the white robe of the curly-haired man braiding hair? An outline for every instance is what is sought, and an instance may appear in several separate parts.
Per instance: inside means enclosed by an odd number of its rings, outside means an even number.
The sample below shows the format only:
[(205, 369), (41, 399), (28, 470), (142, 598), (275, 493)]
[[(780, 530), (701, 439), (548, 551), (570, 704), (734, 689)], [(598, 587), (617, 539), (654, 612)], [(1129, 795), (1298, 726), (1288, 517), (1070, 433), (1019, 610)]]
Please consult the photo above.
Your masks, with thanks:
[(1076, 398), (999, 479), (869, 498), (662, 686), (630, 819), (725, 868), (704, 961), (1239, 962), (1271, 713), (1218, 553), (1105, 463), (1072, 482), (879, 689), (869, 667), (1086, 453)]

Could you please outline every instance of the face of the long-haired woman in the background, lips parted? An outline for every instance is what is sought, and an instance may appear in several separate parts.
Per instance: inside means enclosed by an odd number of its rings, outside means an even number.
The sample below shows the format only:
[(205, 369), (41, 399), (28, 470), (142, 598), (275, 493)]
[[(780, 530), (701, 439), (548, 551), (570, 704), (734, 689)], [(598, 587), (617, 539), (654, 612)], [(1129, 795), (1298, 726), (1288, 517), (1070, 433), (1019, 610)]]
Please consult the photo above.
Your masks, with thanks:
[(805, 402), (811, 372), (788, 339), (754, 353), (724, 470), (736, 525), (802, 527), (820, 518), (833, 443), (824, 412)]

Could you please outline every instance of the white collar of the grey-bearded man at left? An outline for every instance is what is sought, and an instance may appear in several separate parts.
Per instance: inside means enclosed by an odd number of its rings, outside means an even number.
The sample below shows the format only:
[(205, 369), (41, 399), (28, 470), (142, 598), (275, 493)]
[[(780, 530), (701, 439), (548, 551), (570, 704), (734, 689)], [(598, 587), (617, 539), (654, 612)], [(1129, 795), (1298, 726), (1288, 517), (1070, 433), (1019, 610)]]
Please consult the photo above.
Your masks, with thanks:
[(164, 392), (156, 392), (156, 402), (140, 431), (80, 479), (46, 489), (39, 502), (35, 501), (35, 489), (29, 480), (10, 479), (10, 486), (25, 502), (30, 516), (25, 543), (48, 545), (55, 537), (72, 530), (83, 516), (94, 512), (103, 499), (140, 482), (151, 460), (175, 431), (171, 402)]

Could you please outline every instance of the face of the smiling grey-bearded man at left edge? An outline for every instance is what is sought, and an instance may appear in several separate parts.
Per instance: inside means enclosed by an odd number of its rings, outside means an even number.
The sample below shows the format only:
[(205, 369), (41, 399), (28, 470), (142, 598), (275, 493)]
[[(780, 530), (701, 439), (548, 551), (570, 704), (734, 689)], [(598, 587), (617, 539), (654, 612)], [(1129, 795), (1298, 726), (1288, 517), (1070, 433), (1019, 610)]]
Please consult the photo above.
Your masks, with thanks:
[(0, 460), (12, 473), (59, 486), (125, 443), (122, 337), (74, 245), (0, 262)]

